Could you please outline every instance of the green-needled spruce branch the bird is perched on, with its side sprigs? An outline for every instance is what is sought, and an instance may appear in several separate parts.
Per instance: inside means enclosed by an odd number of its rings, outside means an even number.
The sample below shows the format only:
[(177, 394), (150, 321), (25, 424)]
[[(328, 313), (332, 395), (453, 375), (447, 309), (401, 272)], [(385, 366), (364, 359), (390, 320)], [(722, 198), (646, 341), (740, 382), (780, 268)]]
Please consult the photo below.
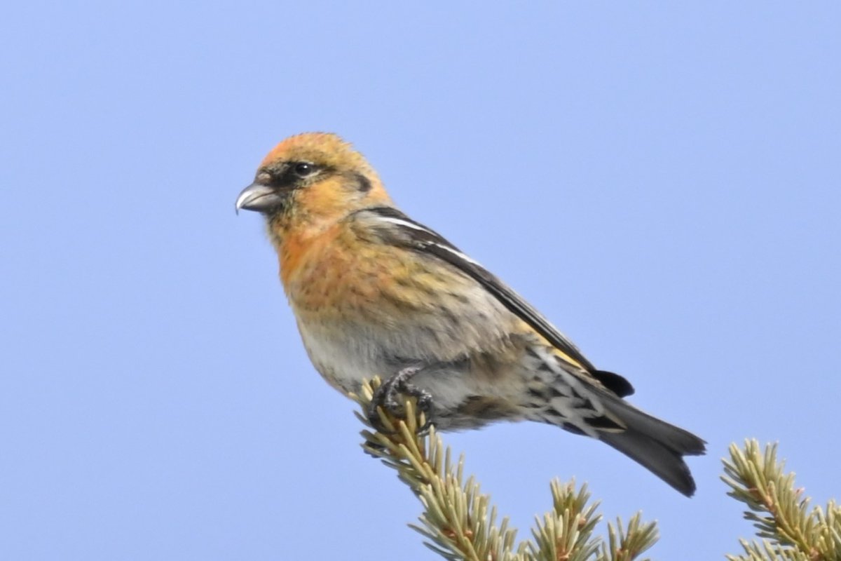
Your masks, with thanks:
[[(362, 384), (353, 395), (362, 411), (368, 410), (378, 378)], [(464, 457), (453, 462), (452, 451), (445, 447), (435, 426), (419, 433), (426, 418), (405, 401), (404, 416), (397, 418), (378, 409), (376, 430), (365, 415), (357, 417), (368, 428), (362, 431), (363, 449), (397, 471), (398, 478), (415, 493), (424, 511), (419, 525), (410, 525), (426, 538), (425, 544), (442, 558), (452, 561), (632, 561), (657, 541), (653, 522), (633, 516), (622, 529), (608, 525), (609, 540), (593, 536), (601, 520), (598, 503), (588, 505), (586, 484), (576, 492), (574, 482), (551, 484), (553, 510), (537, 518), (532, 530), (534, 541), (516, 544), (516, 530), (503, 517), (497, 525), (497, 510), (489, 495), (481, 492), (473, 476), (465, 479)]]

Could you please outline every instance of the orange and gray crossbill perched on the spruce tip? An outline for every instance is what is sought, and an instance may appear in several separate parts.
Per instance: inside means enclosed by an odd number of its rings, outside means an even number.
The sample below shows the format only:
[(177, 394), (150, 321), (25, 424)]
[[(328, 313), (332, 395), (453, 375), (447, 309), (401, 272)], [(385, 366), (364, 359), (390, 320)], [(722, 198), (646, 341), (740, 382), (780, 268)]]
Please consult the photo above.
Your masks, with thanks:
[(341, 393), (379, 376), (374, 408), (398, 410), (399, 394), (414, 396), (436, 431), (559, 426), (695, 493), (684, 456), (705, 453), (706, 442), (625, 400), (634, 392), (626, 378), (595, 368), (500, 278), (399, 210), (340, 136), (281, 141), (235, 209), (264, 216), (304, 348)]

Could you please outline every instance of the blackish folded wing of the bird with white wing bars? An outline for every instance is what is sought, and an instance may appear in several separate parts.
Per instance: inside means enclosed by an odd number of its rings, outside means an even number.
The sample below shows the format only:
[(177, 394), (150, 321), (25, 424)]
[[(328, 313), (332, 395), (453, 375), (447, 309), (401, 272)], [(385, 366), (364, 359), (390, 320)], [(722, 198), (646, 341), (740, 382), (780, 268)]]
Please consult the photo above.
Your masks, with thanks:
[(526, 302), (507, 284), (503, 283), (493, 273), (482, 267), (478, 262), (466, 256), (458, 247), (453, 246), (435, 230), (427, 228), (393, 207), (375, 207), (358, 211), (364, 213), (374, 223), (382, 224), (378, 234), (383, 241), (394, 246), (401, 246), (412, 251), (420, 251), (426, 255), (436, 257), (456, 267), (462, 273), (481, 284), (490, 294), (493, 294), (501, 304), (511, 313), (525, 321), (534, 331), (549, 341), (559, 352), (597, 379), (607, 389), (611, 389), (620, 397), (633, 393), (633, 388), (625, 378), (618, 374), (597, 370), (589, 360), (575, 347), (572, 341), (552, 325), (532, 304)]

